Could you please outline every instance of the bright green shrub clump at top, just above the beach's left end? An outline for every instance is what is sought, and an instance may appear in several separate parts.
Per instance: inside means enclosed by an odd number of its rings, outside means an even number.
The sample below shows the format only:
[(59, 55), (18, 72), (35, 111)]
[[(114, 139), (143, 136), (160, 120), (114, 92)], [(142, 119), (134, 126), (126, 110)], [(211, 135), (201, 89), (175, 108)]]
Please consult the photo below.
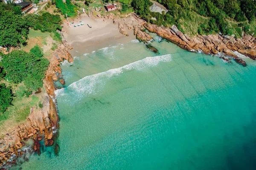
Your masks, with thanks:
[(74, 6), (70, 0), (66, 0), (66, 3), (64, 3), (62, 0), (54, 0), (56, 8), (58, 8), (62, 15), (66, 15), (68, 17), (76, 17), (76, 6)]

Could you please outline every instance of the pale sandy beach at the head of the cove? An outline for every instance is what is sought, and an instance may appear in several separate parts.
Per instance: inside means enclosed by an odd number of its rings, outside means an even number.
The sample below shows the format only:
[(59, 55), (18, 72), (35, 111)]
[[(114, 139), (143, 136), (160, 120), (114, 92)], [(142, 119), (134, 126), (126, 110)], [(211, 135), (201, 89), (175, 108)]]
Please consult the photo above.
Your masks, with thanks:
[[(123, 23), (126, 20), (129, 19), (116, 19), (116, 23)], [(79, 21), (84, 23), (84, 25), (77, 26), (78, 24), (81, 25)], [(66, 21), (63, 24), (62, 32), (67, 42), (74, 48), (74, 50), (70, 51), (73, 57), (90, 53), (99, 48), (115, 45), (116, 43), (124, 43), (136, 39), (133, 30), (126, 29), (129, 36), (121, 34), (118, 30), (118, 24), (113, 24), (111, 19), (92, 19), (87, 14), (82, 14), (79, 20), (76, 19), (72, 22), (74, 24), (71, 24), (71, 27), (69, 27)], [(89, 28), (87, 23), (92, 28)]]

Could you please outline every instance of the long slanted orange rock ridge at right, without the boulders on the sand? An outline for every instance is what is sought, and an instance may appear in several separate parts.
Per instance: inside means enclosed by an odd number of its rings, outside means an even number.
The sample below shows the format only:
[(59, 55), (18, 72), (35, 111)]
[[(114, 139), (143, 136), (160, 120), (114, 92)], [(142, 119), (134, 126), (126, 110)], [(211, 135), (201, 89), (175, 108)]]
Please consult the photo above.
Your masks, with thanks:
[(246, 66), (246, 62), (232, 51), (238, 51), (253, 60), (256, 59), (256, 39), (251, 35), (244, 35), (242, 39), (236, 39), (234, 35), (223, 36), (221, 34), (198, 35), (197, 37), (190, 38), (179, 31), (176, 26), (165, 28), (149, 23), (145, 23), (143, 26), (187, 51), (203, 52), (204, 54), (224, 53), (243, 66)]

